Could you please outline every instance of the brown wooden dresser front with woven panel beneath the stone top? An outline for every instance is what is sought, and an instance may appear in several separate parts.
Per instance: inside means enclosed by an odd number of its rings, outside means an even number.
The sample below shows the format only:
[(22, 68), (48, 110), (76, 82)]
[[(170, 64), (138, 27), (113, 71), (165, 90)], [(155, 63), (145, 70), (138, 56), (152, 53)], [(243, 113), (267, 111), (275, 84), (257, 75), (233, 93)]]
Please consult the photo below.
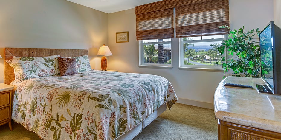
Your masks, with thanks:
[(280, 140), (281, 134), (273, 131), (238, 125), (218, 120), (219, 140)]

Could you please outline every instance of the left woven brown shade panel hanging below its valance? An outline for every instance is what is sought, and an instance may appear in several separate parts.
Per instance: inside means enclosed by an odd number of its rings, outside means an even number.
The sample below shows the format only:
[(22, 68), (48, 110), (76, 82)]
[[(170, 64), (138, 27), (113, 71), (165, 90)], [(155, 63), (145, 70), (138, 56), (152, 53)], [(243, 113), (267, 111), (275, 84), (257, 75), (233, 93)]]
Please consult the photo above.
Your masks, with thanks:
[(137, 40), (174, 38), (173, 9), (136, 15)]

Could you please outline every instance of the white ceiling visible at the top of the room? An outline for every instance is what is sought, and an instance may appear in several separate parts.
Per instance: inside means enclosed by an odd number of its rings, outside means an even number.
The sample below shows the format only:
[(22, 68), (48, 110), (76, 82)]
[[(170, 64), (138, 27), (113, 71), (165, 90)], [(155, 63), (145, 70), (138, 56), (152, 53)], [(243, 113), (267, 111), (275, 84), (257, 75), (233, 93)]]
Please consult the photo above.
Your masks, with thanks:
[(123, 11), (161, 0), (67, 0), (105, 13)]

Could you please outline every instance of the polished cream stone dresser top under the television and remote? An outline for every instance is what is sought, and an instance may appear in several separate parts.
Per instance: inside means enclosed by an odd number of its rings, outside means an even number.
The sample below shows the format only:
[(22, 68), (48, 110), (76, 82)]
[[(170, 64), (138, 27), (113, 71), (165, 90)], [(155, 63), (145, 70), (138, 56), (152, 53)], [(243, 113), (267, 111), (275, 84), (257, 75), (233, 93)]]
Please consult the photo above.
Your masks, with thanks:
[[(228, 87), (225, 83), (251, 85), (253, 89)], [(281, 133), (281, 95), (259, 93), (256, 84), (265, 85), (261, 78), (226, 77), (222, 80), (214, 95), (216, 117)]]

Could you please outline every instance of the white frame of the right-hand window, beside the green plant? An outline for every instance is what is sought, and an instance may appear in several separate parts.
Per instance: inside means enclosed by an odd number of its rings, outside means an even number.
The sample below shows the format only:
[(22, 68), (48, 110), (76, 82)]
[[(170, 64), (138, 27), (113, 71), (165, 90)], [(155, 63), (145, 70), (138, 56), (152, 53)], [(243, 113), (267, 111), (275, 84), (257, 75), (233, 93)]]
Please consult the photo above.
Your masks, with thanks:
[[(188, 38), (188, 37), (187, 37)], [(192, 38), (192, 37), (190, 37)], [(184, 43), (200, 43), (200, 42), (216, 42), (216, 41), (223, 41), (227, 38), (227, 35), (224, 35), (224, 38), (215, 38), (215, 39), (202, 39), (201, 40), (188, 40), (183, 41), (182, 38), (179, 38), (179, 69), (185, 70), (185, 69), (202, 69), (202, 70), (211, 70), (211, 71), (223, 71), (221, 65), (184, 65)], [(223, 56), (226, 58), (226, 51), (223, 54)]]

